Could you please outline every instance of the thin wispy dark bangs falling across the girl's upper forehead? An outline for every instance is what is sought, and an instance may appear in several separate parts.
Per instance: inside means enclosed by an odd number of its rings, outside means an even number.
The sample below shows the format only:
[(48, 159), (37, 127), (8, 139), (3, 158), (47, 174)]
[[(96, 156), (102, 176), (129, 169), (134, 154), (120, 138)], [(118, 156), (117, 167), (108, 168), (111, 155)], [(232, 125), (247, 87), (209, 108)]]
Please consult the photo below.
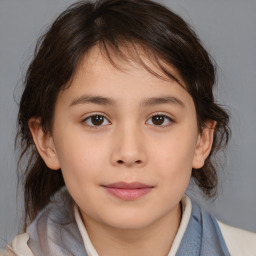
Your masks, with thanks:
[(125, 72), (127, 66), (135, 64), (159, 79), (174, 80), (186, 89), (178, 70), (148, 45), (134, 40), (120, 40), (113, 37), (112, 39), (103, 38), (87, 51), (85, 56), (89, 56), (94, 48), (98, 48), (101, 56), (117, 70)]

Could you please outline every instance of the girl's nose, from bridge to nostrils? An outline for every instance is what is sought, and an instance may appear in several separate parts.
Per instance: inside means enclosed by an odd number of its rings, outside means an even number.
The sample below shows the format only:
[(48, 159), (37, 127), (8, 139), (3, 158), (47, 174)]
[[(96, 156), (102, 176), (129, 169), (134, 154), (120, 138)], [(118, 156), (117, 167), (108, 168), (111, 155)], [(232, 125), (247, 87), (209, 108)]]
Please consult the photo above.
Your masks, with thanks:
[(132, 127), (120, 128), (112, 140), (111, 163), (114, 166), (143, 167), (147, 156), (145, 141), (139, 129)]

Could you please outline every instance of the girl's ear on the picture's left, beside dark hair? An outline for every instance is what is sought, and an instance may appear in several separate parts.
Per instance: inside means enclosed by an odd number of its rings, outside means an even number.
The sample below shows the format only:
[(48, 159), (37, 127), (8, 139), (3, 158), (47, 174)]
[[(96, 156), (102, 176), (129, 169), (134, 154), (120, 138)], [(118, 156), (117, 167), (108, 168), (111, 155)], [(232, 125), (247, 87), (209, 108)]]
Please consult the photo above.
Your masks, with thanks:
[(32, 134), (38, 153), (45, 164), (53, 170), (60, 169), (58, 156), (52, 136), (46, 133), (41, 126), (40, 118), (29, 119), (28, 126)]

